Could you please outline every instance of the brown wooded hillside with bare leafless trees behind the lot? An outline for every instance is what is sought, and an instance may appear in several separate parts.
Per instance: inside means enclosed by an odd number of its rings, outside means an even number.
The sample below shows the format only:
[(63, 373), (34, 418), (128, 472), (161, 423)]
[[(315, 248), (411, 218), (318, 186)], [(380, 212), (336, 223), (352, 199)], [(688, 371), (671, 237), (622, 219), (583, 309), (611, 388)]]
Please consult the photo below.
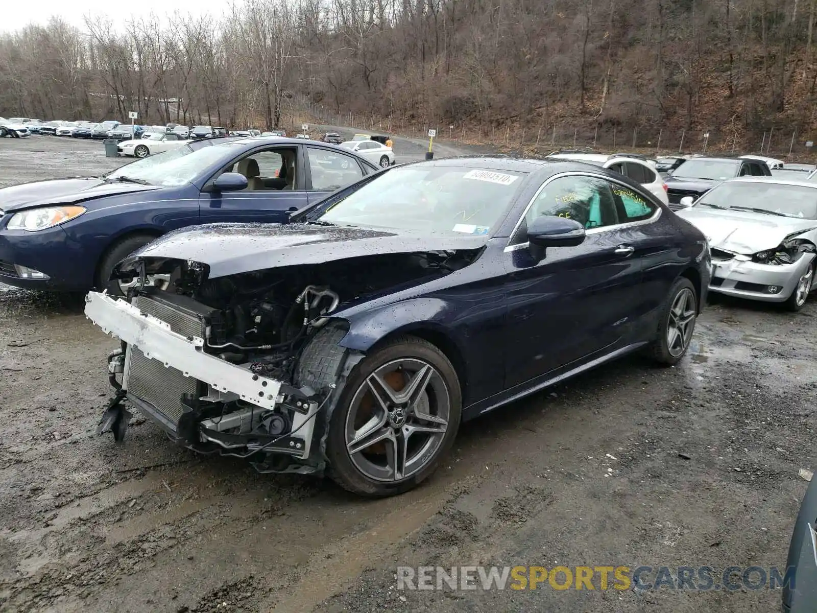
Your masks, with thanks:
[(0, 38), (0, 113), (272, 128), (307, 100), (480, 132), (817, 126), (815, 0), (243, 0), (125, 21)]

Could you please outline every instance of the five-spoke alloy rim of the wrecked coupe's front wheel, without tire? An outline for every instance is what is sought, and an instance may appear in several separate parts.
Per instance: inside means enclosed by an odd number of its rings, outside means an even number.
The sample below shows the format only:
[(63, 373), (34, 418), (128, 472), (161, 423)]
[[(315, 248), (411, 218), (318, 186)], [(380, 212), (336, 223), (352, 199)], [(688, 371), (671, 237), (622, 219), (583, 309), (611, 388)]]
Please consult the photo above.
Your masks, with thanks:
[(400, 481), (426, 468), (449, 427), (443, 376), (417, 358), (392, 360), (369, 374), (346, 414), (346, 451), (364, 477)]

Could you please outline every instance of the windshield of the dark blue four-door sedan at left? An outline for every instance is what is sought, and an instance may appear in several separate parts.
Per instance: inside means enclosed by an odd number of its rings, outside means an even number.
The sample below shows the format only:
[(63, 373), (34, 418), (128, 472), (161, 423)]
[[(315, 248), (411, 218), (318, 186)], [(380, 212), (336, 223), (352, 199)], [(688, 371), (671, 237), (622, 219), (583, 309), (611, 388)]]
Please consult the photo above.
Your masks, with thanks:
[(190, 145), (182, 145), (161, 154), (129, 163), (105, 176), (106, 179), (127, 177), (145, 181), (154, 186), (177, 187), (194, 181), (204, 168), (220, 159), (227, 161), (230, 151), (220, 146), (192, 150)]

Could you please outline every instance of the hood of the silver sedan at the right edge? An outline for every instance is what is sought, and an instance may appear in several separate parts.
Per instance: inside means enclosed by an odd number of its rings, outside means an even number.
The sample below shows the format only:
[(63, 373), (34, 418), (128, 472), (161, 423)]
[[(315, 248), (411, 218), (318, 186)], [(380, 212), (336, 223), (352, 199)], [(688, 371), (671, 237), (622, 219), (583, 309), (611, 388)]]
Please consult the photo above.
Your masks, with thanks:
[(777, 217), (743, 211), (719, 211), (699, 206), (682, 209), (677, 211), (676, 215), (701, 230), (707, 237), (710, 247), (743, 255), (773, 249), (788, 235), (817, 228), (817, 221), (814, 219)]

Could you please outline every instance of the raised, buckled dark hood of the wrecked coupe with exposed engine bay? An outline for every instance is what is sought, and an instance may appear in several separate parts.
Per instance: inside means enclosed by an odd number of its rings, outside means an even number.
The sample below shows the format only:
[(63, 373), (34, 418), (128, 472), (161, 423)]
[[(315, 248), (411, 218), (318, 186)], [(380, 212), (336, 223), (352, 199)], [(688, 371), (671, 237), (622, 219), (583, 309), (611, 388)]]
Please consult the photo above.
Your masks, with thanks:
[(404, 230), (291, 224), (207, 224), (176, 230), (132, 253), (118, 265), (130, 271), (142, 259), (186, 260), (209, 267), (209, 278), (350, 257), (479, 249), (485, 236), (435, 235)]

